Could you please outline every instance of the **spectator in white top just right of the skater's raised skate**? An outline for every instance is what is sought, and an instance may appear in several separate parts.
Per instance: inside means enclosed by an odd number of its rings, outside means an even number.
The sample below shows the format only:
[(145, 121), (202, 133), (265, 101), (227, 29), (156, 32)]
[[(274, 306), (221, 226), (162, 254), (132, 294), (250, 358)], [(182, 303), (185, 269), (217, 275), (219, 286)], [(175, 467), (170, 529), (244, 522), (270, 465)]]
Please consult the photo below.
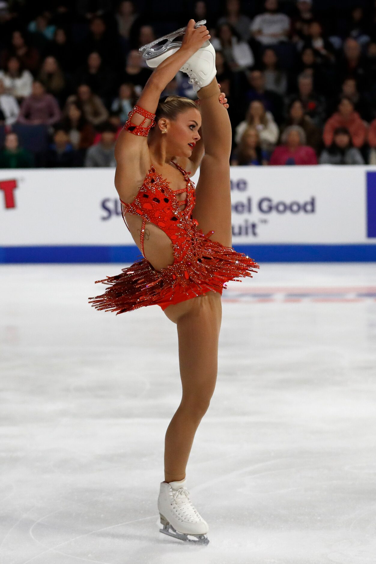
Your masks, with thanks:
[(225, 61), (232, 72), (249, 69), (255, 64), (253, 52), (245, 41), (241, 41), (236, 29), (230, 24), (218, 26), (218, 37), (211, 39), (216, 51), (222, 51)]

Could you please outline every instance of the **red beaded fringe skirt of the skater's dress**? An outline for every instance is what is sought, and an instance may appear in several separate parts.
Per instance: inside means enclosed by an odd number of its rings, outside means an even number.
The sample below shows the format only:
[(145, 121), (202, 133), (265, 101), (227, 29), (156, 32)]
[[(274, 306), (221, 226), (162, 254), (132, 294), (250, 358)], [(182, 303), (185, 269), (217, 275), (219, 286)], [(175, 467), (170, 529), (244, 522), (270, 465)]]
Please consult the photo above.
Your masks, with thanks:
[(123, 268), (121, 274), (97, 280), (109, 287), (100, 296), (89, 298), (97, 310), (122, 314), (139, 307), (158, 305), (165, 310), (171, 303), (183, 302), (214, 290), (222, 294), (224, 284), (237, 277), (253, 277), (259, 265), (244, 253), (218, 241), (211, 241), (201, 233), (184, 258), (156, 270), (143, 258)]

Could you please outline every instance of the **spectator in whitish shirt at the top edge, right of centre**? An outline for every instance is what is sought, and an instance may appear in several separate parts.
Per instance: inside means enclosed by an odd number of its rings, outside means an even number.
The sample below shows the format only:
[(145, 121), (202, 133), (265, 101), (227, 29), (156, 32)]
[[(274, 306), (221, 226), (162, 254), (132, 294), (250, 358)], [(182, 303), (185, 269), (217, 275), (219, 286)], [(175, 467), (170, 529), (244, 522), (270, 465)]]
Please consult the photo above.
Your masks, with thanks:
[(278, 12), (278, 0), (265, 0), (264, 14), (255, 17), (251, 24), (253, 37), (263, 45), (276, 45), (287, 41), (290, 32), (290, 18)]

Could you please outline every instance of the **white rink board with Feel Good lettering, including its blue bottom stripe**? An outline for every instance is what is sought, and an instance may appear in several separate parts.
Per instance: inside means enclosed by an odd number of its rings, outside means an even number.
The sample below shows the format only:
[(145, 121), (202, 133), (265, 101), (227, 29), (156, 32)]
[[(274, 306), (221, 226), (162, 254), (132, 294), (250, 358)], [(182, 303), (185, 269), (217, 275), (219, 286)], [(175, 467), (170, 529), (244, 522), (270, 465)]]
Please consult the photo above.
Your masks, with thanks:
[[(258, 262), (376, 261), (376, 167), (232, 167), (231, 195), (232, 244)], [(0, 170), (0, 262), (140, 257), (114, 169)]]

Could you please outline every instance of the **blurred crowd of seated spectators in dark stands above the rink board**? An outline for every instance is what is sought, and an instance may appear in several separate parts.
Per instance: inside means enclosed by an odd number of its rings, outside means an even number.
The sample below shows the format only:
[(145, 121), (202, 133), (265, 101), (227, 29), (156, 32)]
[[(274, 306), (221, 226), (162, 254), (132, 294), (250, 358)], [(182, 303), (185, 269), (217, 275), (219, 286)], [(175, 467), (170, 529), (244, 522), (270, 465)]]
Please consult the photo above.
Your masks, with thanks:
[[(210, 29), (232, 165), (376, 164), (374, 0), (0, 0), (0, 168), (115, 166), (152, 72), (139, 47), (191, 17)], [(181, 72), (169, 94), (197, 97)]]

